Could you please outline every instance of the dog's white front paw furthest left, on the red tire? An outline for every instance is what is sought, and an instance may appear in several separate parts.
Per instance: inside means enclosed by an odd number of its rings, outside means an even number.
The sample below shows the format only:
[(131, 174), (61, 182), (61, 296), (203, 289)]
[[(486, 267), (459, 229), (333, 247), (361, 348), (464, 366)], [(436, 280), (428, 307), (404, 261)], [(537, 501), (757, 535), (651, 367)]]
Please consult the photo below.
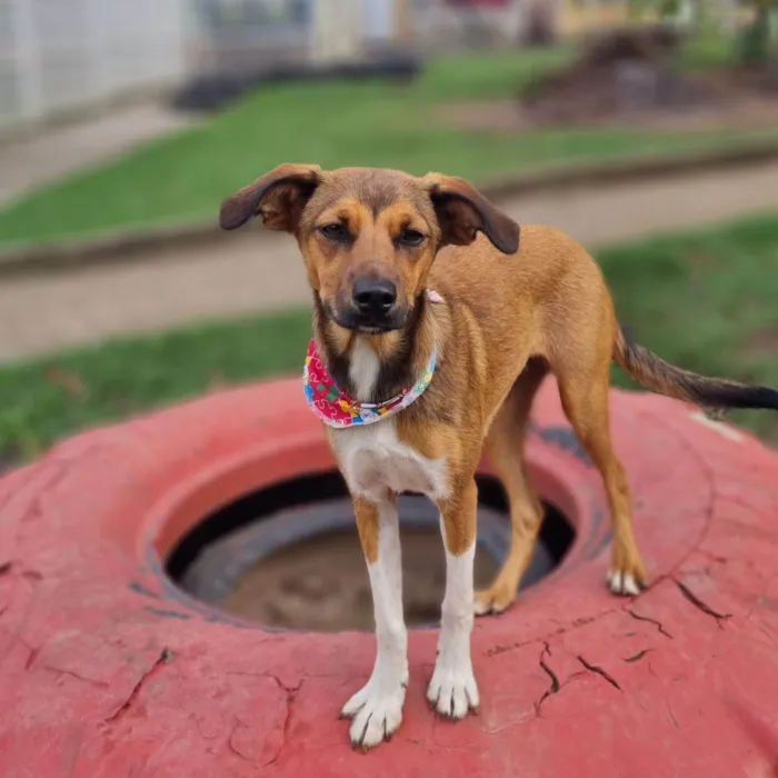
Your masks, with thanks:
[(402, 724), (408, 674), (397, 682), (371, 678), (345, 706), (341, 716), (352, 719), (349, 736), (353, 748), (373, 748), (391, 736)]

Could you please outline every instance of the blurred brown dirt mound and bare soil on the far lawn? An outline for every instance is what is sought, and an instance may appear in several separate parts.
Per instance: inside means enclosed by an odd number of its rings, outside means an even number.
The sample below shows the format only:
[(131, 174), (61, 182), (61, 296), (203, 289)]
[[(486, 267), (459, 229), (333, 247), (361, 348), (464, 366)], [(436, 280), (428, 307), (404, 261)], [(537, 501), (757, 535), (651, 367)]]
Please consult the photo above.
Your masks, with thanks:
[(678, 46), (677, 34), (665, 28), (617, 30), (516, 100), (448, 106), (443, 114), (460, 127), (501, 131), (631, 124), (697, 132), (776, 124), (776, 68), (687, 72), (677, 66)]

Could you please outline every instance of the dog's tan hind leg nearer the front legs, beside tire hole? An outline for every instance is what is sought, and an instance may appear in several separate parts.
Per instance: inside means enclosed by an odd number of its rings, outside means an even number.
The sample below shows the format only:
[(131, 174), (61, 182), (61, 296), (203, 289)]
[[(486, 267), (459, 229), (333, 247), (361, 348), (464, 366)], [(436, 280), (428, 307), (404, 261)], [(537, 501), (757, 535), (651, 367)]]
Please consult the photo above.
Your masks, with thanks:
[(493, 584), (476, 595), (476, 615), (500, 614), (516, 599), (521, 576), (532, 558), (543, 509), (529, 481), (525, 439), (532, 399), (548, 373), (547, 363), (530, 359), (500, 407), (485, 450), (510, 502), (510, 550)]

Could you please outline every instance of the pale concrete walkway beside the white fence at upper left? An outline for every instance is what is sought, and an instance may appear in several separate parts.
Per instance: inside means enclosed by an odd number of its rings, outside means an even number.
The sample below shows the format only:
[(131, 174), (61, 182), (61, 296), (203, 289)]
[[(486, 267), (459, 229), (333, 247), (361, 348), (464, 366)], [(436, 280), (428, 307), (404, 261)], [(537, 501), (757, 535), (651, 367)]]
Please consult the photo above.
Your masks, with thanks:
[(0, 144), (0, 207), (29, 189), (117, 157), (193, 120), (156, 101), (117, 108)]

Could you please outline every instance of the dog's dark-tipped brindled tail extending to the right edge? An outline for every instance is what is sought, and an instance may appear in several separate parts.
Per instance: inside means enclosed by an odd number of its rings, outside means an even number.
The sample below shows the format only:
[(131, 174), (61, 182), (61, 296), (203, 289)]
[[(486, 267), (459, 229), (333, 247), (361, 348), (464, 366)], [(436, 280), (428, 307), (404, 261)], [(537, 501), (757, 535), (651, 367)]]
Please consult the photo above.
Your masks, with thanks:
[(778, 409), (778, 391), (775, 389), (724, 378), (707, 378), (677, 368), (635, 343), (619, 325), (617, 325), (614, 343), (614, 361), (646, 389), (692, 402), (706, 410)]

